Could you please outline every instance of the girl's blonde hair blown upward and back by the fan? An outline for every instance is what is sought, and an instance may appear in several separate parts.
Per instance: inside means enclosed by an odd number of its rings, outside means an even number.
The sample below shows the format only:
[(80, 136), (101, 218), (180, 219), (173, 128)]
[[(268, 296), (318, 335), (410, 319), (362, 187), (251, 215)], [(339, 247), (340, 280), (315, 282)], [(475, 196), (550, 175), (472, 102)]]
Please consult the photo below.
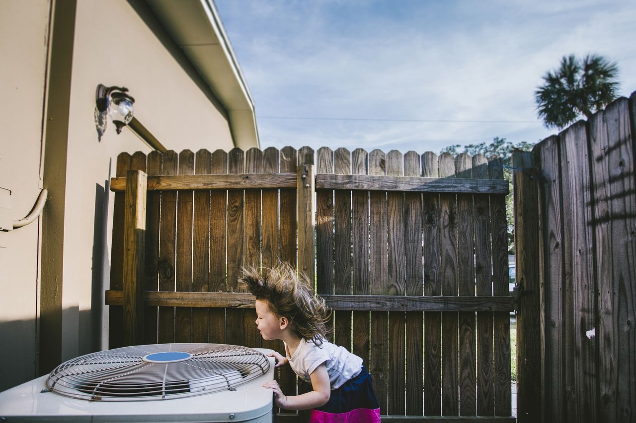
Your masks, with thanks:
[(289, 264), (267, 269), (261, 274), (253, 267), (244, 269), (242, 282), (257, 300), (265, 300), (268, 309), (275, 316), (286, 317), (291, 328), (305, 340), (312, 340), (317, 346), (330, 332), (326, 322), (331, 318), (324, 299), (314, 295), (307, 277), (296, 274)]

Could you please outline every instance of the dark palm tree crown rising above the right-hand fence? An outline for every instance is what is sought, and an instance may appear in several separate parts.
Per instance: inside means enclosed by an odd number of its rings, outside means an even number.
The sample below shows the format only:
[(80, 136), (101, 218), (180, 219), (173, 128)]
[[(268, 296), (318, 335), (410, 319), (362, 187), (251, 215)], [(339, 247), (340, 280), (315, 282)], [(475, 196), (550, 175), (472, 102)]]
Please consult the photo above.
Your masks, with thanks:
[(543, 76), (534, 91), (546, 128), (564, 128), (584, 114), (588, 119), (616, 98), (618, 66), (602, 56), (563, 56), (560, 67)]

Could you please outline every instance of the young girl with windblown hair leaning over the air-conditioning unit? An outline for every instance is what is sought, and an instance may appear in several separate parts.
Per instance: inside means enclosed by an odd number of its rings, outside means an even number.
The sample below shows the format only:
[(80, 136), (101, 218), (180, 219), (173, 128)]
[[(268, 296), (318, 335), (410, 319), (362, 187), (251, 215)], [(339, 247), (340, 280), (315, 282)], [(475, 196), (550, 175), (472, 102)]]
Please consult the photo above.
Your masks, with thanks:
[(263, 339), (280, 339), (285, 356), (270, 354), (276, 367), (289, 364), (301, 379), (311, 382), (312, 391), (285, 395), (278, 382), (271, 388), (274, 401), (286, 410), (313, 408), (310, 423), (380, 423), (380, 404), (371, 375), (362, 359), (326, 339), (329, 313), (324, 300), (304, 277), (289, 265), (278, 269), (248, 269), (243, 278), (256, 297), (256, 326)]

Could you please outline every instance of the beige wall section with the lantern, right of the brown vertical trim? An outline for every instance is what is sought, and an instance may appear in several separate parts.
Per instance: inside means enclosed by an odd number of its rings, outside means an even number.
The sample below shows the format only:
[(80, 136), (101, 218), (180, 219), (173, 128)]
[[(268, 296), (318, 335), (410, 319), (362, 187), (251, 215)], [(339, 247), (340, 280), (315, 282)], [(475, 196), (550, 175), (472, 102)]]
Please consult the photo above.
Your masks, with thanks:
[[(143, 5), (78, 2), (67, 145), (62, 359), (107, 347), (102, 298), (109, 277), (113, 194), (104, 189), (120, 152), (149, 152), (132, 132), (116, 135), (111, 121), (98, 140), (93, 113), (99, 83), (126, 86), (135, 98), (135, 117), (167, 149), (233, 147), (225, 111)], [(99, 316), (88, 312), (92, 307), (104, 309), (100, 333), (95, 333)]]

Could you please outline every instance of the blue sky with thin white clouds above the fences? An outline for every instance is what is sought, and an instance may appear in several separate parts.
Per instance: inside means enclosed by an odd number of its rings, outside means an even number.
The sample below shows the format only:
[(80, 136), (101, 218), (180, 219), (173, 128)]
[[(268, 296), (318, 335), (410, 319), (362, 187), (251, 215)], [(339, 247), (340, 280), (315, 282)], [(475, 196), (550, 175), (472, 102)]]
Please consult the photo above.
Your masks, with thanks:
[[(439, 151), (557, 133), (534, 91), (595, 53), (636, 91), (636, 1), (215, 0), (261, 149)], [(462, 149), (460, 149), (462, 151)]]

